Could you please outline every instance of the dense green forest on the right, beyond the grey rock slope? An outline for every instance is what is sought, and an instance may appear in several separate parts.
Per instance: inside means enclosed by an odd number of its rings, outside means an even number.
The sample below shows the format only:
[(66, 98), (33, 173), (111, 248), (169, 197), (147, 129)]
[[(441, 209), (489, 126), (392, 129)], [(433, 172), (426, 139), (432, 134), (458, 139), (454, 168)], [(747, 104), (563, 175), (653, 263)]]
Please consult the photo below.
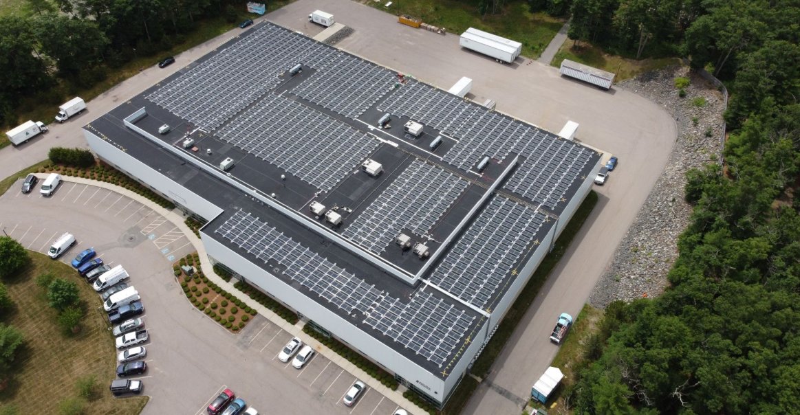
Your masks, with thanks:
[(606, 309), (564, 396), (577, 413), (800, 412), (800, 0), (531, 4), (568, 10), (578, 41), (674, 50), (731, 94), (724, 165), (686, 174), (670, 289)]

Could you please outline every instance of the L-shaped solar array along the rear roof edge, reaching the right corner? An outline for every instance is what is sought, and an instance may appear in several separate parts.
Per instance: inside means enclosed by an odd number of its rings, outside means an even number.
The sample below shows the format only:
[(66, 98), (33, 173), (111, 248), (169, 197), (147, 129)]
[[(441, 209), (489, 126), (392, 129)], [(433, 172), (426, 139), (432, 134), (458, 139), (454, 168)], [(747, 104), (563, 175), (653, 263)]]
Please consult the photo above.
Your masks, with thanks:
[(536, 127), (518, 122), (422, 82), (410, 81), (378, 108), (434, 126), (458, 142), (442, 158), (470, 170), (484, 156), (503, 159), (510, 152), (526, 158), (506, 184), (530, 200), (554, 209), (593, 152)]

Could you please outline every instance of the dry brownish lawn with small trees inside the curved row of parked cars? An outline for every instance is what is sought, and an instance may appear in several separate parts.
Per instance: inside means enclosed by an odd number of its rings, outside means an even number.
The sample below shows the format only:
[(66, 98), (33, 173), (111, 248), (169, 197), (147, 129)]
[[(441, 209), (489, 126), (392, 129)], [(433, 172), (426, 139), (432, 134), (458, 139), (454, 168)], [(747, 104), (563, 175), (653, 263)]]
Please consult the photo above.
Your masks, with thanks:
[[(107, 330), (106, 313), (98, 309), (100, 297), (69, 265), (41, 253), (30, 252), (30, 257), (33, 262), (27, 269), (3, 281), (14, 300), (14, 309), (4, 313), (0, 321), (22, 331), (26, 343), (14, 362), (17, 366), (14, 377), (0, 392), (2, 409), (16, 407), (18, 413), (31, 413), (26, 409), (34, 406), (36, 413), (59, 413), (61, 401), (78, 397), (76, 379), (94, 375), (96, 397), (84, 401), (86, 409), (82, 413), (140, 413), (147, 397), (118, 399), (108, 390), (116, 375), (117, 350), (114, 337)], [(47, 305), (44, 289), (34, 281), (42, 273), (78, 282), (86, 317), (77, 335), (67, 336), (56, 325), (56, 312)]]

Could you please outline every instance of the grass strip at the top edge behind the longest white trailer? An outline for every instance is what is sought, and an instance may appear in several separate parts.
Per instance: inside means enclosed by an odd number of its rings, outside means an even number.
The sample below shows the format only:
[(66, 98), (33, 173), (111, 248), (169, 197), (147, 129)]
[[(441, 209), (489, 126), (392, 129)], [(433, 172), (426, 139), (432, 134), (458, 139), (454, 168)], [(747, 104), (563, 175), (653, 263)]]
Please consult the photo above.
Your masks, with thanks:
[[(399, 0), (389, 8), (386, 1), (367, 4), (391, 14), (409, 14), (429, 25), (444, 27), (448, 32), (462, 34), (470, 27), (484, 30), (522, 43), (522, 55), (538, 58), (553, 40), (564, 21), (544, 13), (531, 13), (526, 2), (508, 2), (499, 14), (478, 14), (478, 2), (455, 0)], [(399, 24), (399, 23), (398, 23)]]

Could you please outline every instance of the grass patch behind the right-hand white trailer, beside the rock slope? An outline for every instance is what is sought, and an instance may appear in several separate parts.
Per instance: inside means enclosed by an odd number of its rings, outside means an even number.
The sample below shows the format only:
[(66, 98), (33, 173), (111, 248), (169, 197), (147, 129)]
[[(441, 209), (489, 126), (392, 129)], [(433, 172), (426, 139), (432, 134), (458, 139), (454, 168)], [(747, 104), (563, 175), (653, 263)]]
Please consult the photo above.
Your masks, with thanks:
[(564, 59), (594, 66), (606, 70), (612, 74), (617, 74), (614, 82), (624, 81), (634, 78), (638, 74), (644, 74), (651, 70), (659, 70), (670, 65), (680, 65), (679, 58), (647, 58), (642, 60), (622, 58), (618, 55), (605, 54), (603, 51), (589, 43), (580, 42), (578, 47), (574, 47), (575, 41), (567, 39), (566, 42), (555, 54), (550, 66), (559, 67)]

